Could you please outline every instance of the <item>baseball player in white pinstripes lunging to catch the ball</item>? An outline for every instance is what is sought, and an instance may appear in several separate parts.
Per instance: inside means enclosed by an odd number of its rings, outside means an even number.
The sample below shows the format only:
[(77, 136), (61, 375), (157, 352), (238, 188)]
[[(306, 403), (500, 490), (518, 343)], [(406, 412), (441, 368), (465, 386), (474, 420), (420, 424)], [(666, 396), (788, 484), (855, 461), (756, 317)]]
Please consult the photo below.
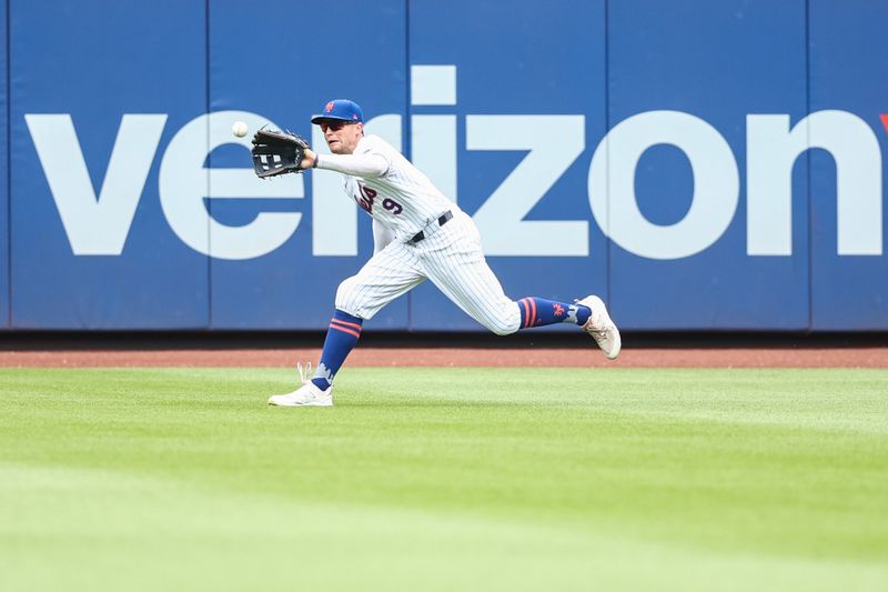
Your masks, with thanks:
[[(342, 173), (345, 193), (373, 218), (374, 253), (336, 291), (335, 311), (314, 375), (304, 377), (304, 384), (295, 391), (272, 397), (269, 404), (332, 405), (333, 379), (357, 344), (364, 321), (426, 279), (498, 335), (575, 323), (592, 335), (607, 358), (617, 357), (619, 331), (597, 295), (573, 303), (505, 295), (484, 259), (472, 218), (391, 144), (377, 136), (364, 136), (364, 116), (356, 103), (330, 101), (312, 123), (321, 127), (332, 154), (317, 154), (303, 140), (290, 137), (301, 142), (301, 149), (293, 167), (278, 172), (324, 169)], [(254, 148), (258, 174), (271, 174), (269, 159), (260, 159), (258, 152), (261, 150)], [(280, 160), (274, 152), (272, 148), (263, 153), (272, 154), (274, 162)]]

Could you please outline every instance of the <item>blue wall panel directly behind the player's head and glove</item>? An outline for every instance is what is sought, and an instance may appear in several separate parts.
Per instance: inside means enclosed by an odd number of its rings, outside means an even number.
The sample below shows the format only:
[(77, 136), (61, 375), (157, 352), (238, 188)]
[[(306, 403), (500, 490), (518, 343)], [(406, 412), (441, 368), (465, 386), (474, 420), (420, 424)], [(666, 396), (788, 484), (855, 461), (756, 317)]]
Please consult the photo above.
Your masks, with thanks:
[[(210, 111), (220, 116), (213, 143), (231, 142), (231, 123), (249, 119), (232, 111), (254, 113), (255, 127), (271, 121), (311, 138), (310, 116), (327, 96), (360, 98), (369, 118), (393, 113), (387, 123), (375, 119), (369, 127), (379, 133), (382, 124), (390, 139), (400, 141), (407, 97), (403, 0), (275, 4), (261, 11), (242, 0), (209, 4)], [(269, 19), (268, 10), (278, 17)], [(360, 54), (350, 49), (353, 42), (330, 38), (331, 26), (347, 22), (361, 37)], [(213, 170), (240, 169), (242, 175), (238, 190), (224, 179), (214, 183), (213, 173), (210, 178), (209, 208), (219, 222), (211, 228), (210, 247), (220, 254), (209, 260), (211, 327), (325, 329), (339, 282), (373, 253), (370, 218), (363, 211), (359, 218), (332, 172), (256, 179), (249, 147), (250, 136), (243, 146), (213, 146), (210, 155)], [(407, 320), (408, 301), (400, 299), (374, 318), (373, 327), (406, 329)]]

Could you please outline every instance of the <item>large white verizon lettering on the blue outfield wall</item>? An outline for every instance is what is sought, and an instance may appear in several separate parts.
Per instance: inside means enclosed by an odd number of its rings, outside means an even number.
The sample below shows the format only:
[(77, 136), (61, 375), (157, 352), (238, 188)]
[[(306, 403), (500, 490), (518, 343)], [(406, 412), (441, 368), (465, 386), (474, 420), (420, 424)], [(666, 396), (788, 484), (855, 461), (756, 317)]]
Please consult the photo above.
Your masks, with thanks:
[[(456, 118), (415, 114), (411, 121), (414, 160), (421, 168), (422, 162), (435, 162), (433, 170), (424, 169), (454, 199), (457, 148), (526, 152), (475, 213), (487, 254), (588, 255), (588, 219), (525, 220), (586, 151), (585, 116), (467, 114), (464, 147), (456, 147)], [(251, 129), (276, 127), (260, 113), (201, 114), (180, 129), (160, 155), (167, 116), (125, 114), (105, 165), (104, 182), (98, 190), (90, 181), (70, 114), (32, 113), (24, 119), (74, 254), (122, 252), (149, 171), (158, 158), (157, 191), (164, 215), (172, 232), (195, 251), (219, 259), (253, 259), (274, 251), (299, 232), (301, 212), (262, 212), (244, 225), (232, 227), (213, 219), (205, 207), (206, 198), (305, 198), (302, 175), (271, 182), (256, 179), (246, 151), (244, 168), (204, 167), (209, 152), (222, 144), (249, 149), (249, 137), (231, 134), (232, 121), (243, 120)], [(383, 114), (370, 120), (366, 129), (401, 147), (402, 127), (402, 116)], [(514, 133), (516, 129), (522, 133)], [(694, 177), (690, 208), (682, 220), (669, 225), (647, 220), (635, 193), (638, 161), (646, 150), (658, 144), (670, 144), (684, 152)], [(314, 136), (313, 146), (322, 150), (320, 134)], [(746, 171), (738, 170), (728, 142), (705, 120), (682, 111), (647, 111), (610, 129), (598, 140), (591, 160), (579, 165), (588, 168), (588, 203), (595, 223), (605, 235), (638, 257), (683, 259), (716, 243), (736, 215), (740, 174), (745, 174), (747, 188), (746, 253), (790, 257), (793, 167), (815, 148), (827, 151), (836, 164), (836, 253), (881, 255), (881, 150), (872, 129), (847, 111), (817, 111), (795, 126), (790, 126), (788, 114), (748, 114)], [(335, 173), (311, 174), (312, 254), (356, 255), (356, 208), (341, 194)]]

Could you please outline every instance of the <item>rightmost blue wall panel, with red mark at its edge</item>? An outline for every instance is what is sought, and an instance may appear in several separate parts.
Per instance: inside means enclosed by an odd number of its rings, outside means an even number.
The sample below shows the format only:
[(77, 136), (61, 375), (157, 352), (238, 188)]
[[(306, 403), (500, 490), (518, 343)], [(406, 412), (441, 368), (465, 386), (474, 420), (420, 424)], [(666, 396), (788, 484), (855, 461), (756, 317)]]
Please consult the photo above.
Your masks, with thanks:
[[(846, 133), (844, 160), (819, 149), (808, 154), (811, 329), (888, 327), (888, 116), (885, 124), (880, 117), (888, 113), (886, 16), (886, 2), (810, 4), (810, 111), (849, 113), (834, 123)], [(844, 183), (837, 183), (837, 170), (839, 180), (847, 175)], [(854, 239), (862, 244), (842, 247)], [(844, 254), (849, 248), (872, 254)]]

